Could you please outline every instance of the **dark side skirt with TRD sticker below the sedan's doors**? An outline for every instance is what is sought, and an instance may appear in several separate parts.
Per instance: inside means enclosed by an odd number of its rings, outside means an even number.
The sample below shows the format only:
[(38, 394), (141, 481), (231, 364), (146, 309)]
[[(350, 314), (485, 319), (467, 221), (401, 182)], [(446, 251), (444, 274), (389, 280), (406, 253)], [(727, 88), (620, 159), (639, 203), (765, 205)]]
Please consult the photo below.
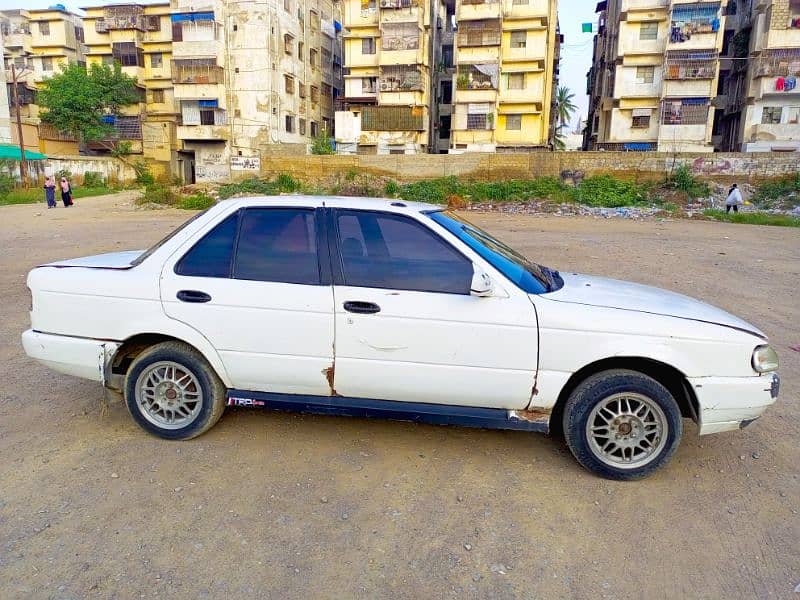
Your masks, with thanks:
[(513, 429), (541, 433), (547, 433), (549, 430), (547, 420), (526, 419), (522, 417), (523, 411), (345, 396), (305, 396), (228, 390), (228, 406), (252, 406), (317, 415), (390, 419), (483, 429)]

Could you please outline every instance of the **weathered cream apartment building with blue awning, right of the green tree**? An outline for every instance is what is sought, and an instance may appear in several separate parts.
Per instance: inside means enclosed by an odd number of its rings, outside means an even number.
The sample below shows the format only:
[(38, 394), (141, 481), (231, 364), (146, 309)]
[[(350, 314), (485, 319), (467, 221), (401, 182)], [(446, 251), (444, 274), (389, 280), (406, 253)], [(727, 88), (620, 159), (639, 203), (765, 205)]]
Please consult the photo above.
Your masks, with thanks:
[(172, 81), (185, 181), (258, 172), (260, 156), (305, 153), (332, 133), (341, 94), (338, 7), (330, 0), (172, 0)]

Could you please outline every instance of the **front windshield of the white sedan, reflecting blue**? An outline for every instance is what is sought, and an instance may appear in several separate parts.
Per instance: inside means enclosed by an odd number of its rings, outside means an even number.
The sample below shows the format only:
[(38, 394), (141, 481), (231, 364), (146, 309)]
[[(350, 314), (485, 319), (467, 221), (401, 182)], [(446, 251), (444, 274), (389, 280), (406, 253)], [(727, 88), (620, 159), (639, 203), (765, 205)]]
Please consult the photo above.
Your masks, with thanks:
[(464, 217), (451, 211), (427, 213), (439, 225), (477, 252), (495, 269), (505, 275), (517, 287), (529, 294), (552, 292), (564, 285), (554, 271), (529, 261), (513, 248), (507, 246)]

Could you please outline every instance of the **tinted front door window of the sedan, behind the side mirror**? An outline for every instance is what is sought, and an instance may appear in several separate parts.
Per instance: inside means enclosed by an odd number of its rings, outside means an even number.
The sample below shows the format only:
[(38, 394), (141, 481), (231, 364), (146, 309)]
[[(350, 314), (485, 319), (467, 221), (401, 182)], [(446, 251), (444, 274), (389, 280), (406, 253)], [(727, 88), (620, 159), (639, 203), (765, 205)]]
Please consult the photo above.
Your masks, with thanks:
[(347, 211), (337, 220), (347, 285), (469, 294), (472, 263), (413, 219)]

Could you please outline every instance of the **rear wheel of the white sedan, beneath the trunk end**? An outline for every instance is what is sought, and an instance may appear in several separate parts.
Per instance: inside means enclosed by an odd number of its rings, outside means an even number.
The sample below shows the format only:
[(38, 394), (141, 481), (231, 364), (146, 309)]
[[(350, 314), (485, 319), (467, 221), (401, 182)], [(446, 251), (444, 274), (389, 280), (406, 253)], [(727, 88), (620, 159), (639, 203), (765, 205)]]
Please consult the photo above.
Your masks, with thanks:
[(183, 342), (151, 346), (131, 363), (125, 403), (133, 420), (168, 440), (211, 429), (225, 410), (226, 389), (208, 361)]

